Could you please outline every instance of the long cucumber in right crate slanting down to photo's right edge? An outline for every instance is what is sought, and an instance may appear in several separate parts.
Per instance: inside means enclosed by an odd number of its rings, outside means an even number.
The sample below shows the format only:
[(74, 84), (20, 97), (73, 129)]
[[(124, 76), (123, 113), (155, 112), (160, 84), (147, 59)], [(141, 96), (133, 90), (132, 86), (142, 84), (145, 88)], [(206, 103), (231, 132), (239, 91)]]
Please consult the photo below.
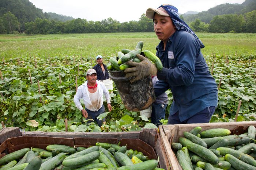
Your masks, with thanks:
[[(240, 159), (241, 161), (248, 163), (249, 165), (256, 167), (256, 161), (249, 155), (243, 154), (240, 151), (230, 149), (228, 147), (219, 147), (217, 150), (220, 152), (222, 156), (225, 156), (226, 154), (233, 155), (234, 157)], [(232, 165), (232, 164), (231, 164)]]

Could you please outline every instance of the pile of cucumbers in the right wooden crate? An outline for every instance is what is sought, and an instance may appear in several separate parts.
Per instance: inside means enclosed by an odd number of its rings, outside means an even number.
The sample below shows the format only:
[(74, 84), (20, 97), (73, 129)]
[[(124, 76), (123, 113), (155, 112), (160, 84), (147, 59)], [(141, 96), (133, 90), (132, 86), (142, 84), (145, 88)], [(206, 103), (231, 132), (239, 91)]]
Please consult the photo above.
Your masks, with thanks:
[(183, 170), (256, 170), (255, 126), (238, 136), (223, 128), (201, 130), (184, 132), (171, 144)]

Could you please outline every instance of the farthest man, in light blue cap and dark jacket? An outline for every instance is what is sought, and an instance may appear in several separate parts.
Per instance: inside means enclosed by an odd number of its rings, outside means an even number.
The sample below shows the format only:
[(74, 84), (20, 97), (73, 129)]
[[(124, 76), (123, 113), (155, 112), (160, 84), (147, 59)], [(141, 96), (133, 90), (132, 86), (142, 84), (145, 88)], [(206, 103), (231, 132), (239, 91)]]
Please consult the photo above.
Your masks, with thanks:
[(101, 55), (96, 56), (97, 64), (93, 67), (97, 72), (97, 80), (106, 80), (109, 79), (109, 73), (107, 70), (107, 66), (103, 64), (103, 59)]

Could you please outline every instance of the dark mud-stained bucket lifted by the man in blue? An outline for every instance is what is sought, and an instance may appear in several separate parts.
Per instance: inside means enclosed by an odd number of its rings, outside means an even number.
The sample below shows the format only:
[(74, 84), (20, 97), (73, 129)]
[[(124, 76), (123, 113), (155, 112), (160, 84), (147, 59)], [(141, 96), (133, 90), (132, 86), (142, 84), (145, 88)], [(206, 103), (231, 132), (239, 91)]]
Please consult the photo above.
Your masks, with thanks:
[(123, 71), (109, 70), (109, 77), (115, 83), (116, 89), (127, 110), (145, 110), (155, 101), (155, 92), (150, 76), (131, 83), (129, 81), (131, 78), (126, 78)]

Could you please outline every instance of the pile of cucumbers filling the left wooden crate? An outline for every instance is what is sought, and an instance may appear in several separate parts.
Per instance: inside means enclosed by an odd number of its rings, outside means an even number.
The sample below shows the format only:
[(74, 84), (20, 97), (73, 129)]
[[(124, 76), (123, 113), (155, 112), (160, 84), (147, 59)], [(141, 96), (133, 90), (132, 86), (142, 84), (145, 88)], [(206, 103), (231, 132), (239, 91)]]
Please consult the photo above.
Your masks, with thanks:
[(142, 152), (100, 142), (88, 148), (24, 148), (0, 159), (0, 170), (163, 170), (157, 166), (157, 160), (148, 159)]

